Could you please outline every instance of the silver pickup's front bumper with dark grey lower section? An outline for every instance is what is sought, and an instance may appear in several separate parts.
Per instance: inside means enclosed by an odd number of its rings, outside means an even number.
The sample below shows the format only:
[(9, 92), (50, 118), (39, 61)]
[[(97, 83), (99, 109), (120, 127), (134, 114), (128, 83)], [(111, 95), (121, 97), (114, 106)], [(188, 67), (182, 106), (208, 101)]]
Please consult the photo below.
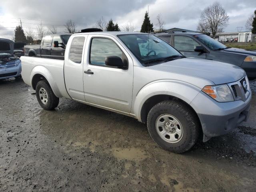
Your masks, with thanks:
[(200, 92), (191, 102), (200, 119), (204, 133), (204, 142), (211, 137), (221, 136), (236, 128), (249, 116), (252, 93), (245, 101), (216, 102)]

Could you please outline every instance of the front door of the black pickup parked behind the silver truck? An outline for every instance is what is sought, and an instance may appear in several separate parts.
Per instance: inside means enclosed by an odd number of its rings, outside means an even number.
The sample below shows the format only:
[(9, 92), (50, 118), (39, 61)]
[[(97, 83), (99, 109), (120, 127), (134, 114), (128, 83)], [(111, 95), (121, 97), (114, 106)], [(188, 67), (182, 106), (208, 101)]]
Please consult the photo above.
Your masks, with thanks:
[[(54, 47), (54, 41), (58, 41), (59, 43), (58, 47)], [(65, 53), (65, 48), (64, 48), (64, 43), (62, 42), (62, 39), (58, 35), (53, 36), (51, 58), (64, 60), (64, 53)]]

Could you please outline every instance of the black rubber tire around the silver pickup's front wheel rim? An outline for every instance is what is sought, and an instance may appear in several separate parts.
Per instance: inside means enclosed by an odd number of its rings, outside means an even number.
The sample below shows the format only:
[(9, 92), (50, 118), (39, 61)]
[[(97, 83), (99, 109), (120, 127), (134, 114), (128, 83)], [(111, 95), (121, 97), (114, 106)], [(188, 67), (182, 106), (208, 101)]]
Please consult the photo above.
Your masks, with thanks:
[[(174, 116), (182, 124), (183, 134), (176, 143), (166, 142), (156, 130), (156, 121), (163, 114)], [(200, 134), (200, 123), (195, 112), (178, 100), (163, 101), (152, 107), (148, 113), (147, 125), (148, 132), (156, 144), (165, 150), (175, 153), (183, 153), (190, 150)], [(160, 127), (160, 131), (161, 129)]]

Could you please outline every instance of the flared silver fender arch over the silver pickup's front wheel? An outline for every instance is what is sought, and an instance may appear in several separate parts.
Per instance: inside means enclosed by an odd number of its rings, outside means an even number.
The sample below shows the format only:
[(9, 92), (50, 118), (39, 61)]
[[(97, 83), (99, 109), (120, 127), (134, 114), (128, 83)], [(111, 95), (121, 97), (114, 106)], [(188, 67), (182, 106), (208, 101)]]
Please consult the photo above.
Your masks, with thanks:
[(157, 80), (150, 82), (136, 94), (132, 112), (142, 122), (141, 110), (143, 104), (152, 96), (169, 95), (190, 104), (201, 90), (202, 88), (200, 87), (178, 80)]

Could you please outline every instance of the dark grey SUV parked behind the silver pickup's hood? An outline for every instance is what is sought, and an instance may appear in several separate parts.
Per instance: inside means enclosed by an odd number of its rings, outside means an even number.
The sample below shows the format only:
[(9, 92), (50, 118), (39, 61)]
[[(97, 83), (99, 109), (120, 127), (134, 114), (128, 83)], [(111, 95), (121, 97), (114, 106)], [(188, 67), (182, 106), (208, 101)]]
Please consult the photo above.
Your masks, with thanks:
[(255, 51), (230, 48), (200, 33), (162, 33), (155, 35), (168, 42), (186, 57), (204, 58), (234, 64), (243, 68), (248, 78), (256, 78)]

